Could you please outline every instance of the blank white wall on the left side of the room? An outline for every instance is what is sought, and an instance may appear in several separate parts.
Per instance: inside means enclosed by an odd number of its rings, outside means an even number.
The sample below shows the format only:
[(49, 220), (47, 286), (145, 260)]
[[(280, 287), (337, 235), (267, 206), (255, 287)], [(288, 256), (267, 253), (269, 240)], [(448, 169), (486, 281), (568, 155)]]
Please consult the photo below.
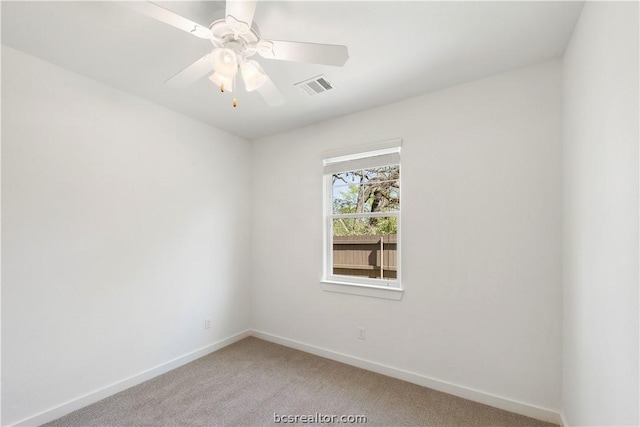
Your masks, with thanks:
[(2, 425), (250, 326), (248, 160), (3, 46)]

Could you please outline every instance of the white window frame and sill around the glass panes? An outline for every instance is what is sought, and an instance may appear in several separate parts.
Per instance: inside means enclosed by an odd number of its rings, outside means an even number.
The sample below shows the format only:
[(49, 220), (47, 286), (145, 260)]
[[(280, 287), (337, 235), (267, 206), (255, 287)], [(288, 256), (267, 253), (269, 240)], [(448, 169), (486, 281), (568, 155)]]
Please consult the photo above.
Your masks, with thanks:
[[(384, 165), (400, 164), (401, 139), (383, 141), (375, 144), (368, 144), (364, 147), (356, 147), (349, 151), (339, 153), (327, 153), (323, 156), (323, 278), (322, 289), (330, 292), (340, 292), (352, 295), (371, 296), (392, 300), (402, 298), (402, 183), (400, 183), (400, 209), (392, 212), (363, 212), (358, 214), (334, 214), (333, 213), (333, 185), (332, 176), (334, 171), (359, 170), (368, 167), (383, 166), (384, 157), (389, 158), (389, 162)], [(370, 160), (368, 160), (370, 159)], [(375, 159), (375, 160), (373, 160)], [(380, 160), (382, 159), (382, 160)], [(369, 161), (377, 163), (369, 164)], [(351, 165), (353, 168), (351, 168)], [(364, 166), (363, 166), (364, 165)], [(402, 179), (402, 166), (400, 167), (400, 180)], [(398, 219), (398, 233), (396, 236), (397, 248), (397, 277), (396, 279), (371, 279), (368, 277), (343, 276), (333, 274), (333, 219), (336, 217), (396, 217)]]

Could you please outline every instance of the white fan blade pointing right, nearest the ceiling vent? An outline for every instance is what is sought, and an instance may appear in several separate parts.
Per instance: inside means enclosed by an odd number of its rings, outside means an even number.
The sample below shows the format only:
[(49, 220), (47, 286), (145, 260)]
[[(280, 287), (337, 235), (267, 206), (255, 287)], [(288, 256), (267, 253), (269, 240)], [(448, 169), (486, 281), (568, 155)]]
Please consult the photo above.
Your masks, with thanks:
[(279, 40), (260, 41), (258, 53), (270, 59), (336, 66), (344, 65), (349, 59), (346, 46)]

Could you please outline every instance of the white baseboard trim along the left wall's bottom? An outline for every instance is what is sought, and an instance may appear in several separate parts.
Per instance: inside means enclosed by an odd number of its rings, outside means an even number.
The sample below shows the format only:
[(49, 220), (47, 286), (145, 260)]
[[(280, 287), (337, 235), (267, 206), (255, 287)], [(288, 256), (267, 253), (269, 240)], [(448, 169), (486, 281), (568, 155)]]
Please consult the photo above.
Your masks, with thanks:
[(246, 338), (248, 336), (251, 336), (251, 330), (249, 329), (239, 332), (228, 338), (217, 341), (213, 344), (209, 344), (205, 347), (194, 350), (190, 353), (183, 354), (182, 356), (176, 357), (175, 359), (169, 360), (168, 362), (154, 366), (153, 368), (147, 369), (146, 371), (142, 371), (139, 374), (132, 375), (129, 378), (125, 378), (121, 381), (115, 382), (106, 387), (100, 388), (98, 390), (87, 393), (83, 396), (69, 400), (58, 406), (47, 409), (46, 411), (40, 412), (39, 414), (25, 418), (21, 421), (18, 421), (13, 425), (14, 426), (38, 426), (40, 424), (48, 423), (49, 421), (58, 419), (62, 416), (65, 416), (87, 405), (90, 405), (106, 397), (109, 397), (123, 390), (131, 388), (144, 381), (157, 377), (158, 375), (169, 372), (172, 369), (176, 369), (189, 362), (193, 362), (196, 359), (206, 356), (209, 353), (213, 353), (216, 350), (220, 350), (221, 348), (226, 347), (230, 344), (233, 344), (236, 341), (240, 341), (241, 339)]

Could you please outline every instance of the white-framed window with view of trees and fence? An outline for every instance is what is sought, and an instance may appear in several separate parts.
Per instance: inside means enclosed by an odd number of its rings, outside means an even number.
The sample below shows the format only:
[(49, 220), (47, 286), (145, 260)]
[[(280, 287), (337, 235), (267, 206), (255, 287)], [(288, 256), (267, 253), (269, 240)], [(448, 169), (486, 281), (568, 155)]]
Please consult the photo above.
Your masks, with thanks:
[(399, 142), (324, 159), (326, 283), (400, 289)]

